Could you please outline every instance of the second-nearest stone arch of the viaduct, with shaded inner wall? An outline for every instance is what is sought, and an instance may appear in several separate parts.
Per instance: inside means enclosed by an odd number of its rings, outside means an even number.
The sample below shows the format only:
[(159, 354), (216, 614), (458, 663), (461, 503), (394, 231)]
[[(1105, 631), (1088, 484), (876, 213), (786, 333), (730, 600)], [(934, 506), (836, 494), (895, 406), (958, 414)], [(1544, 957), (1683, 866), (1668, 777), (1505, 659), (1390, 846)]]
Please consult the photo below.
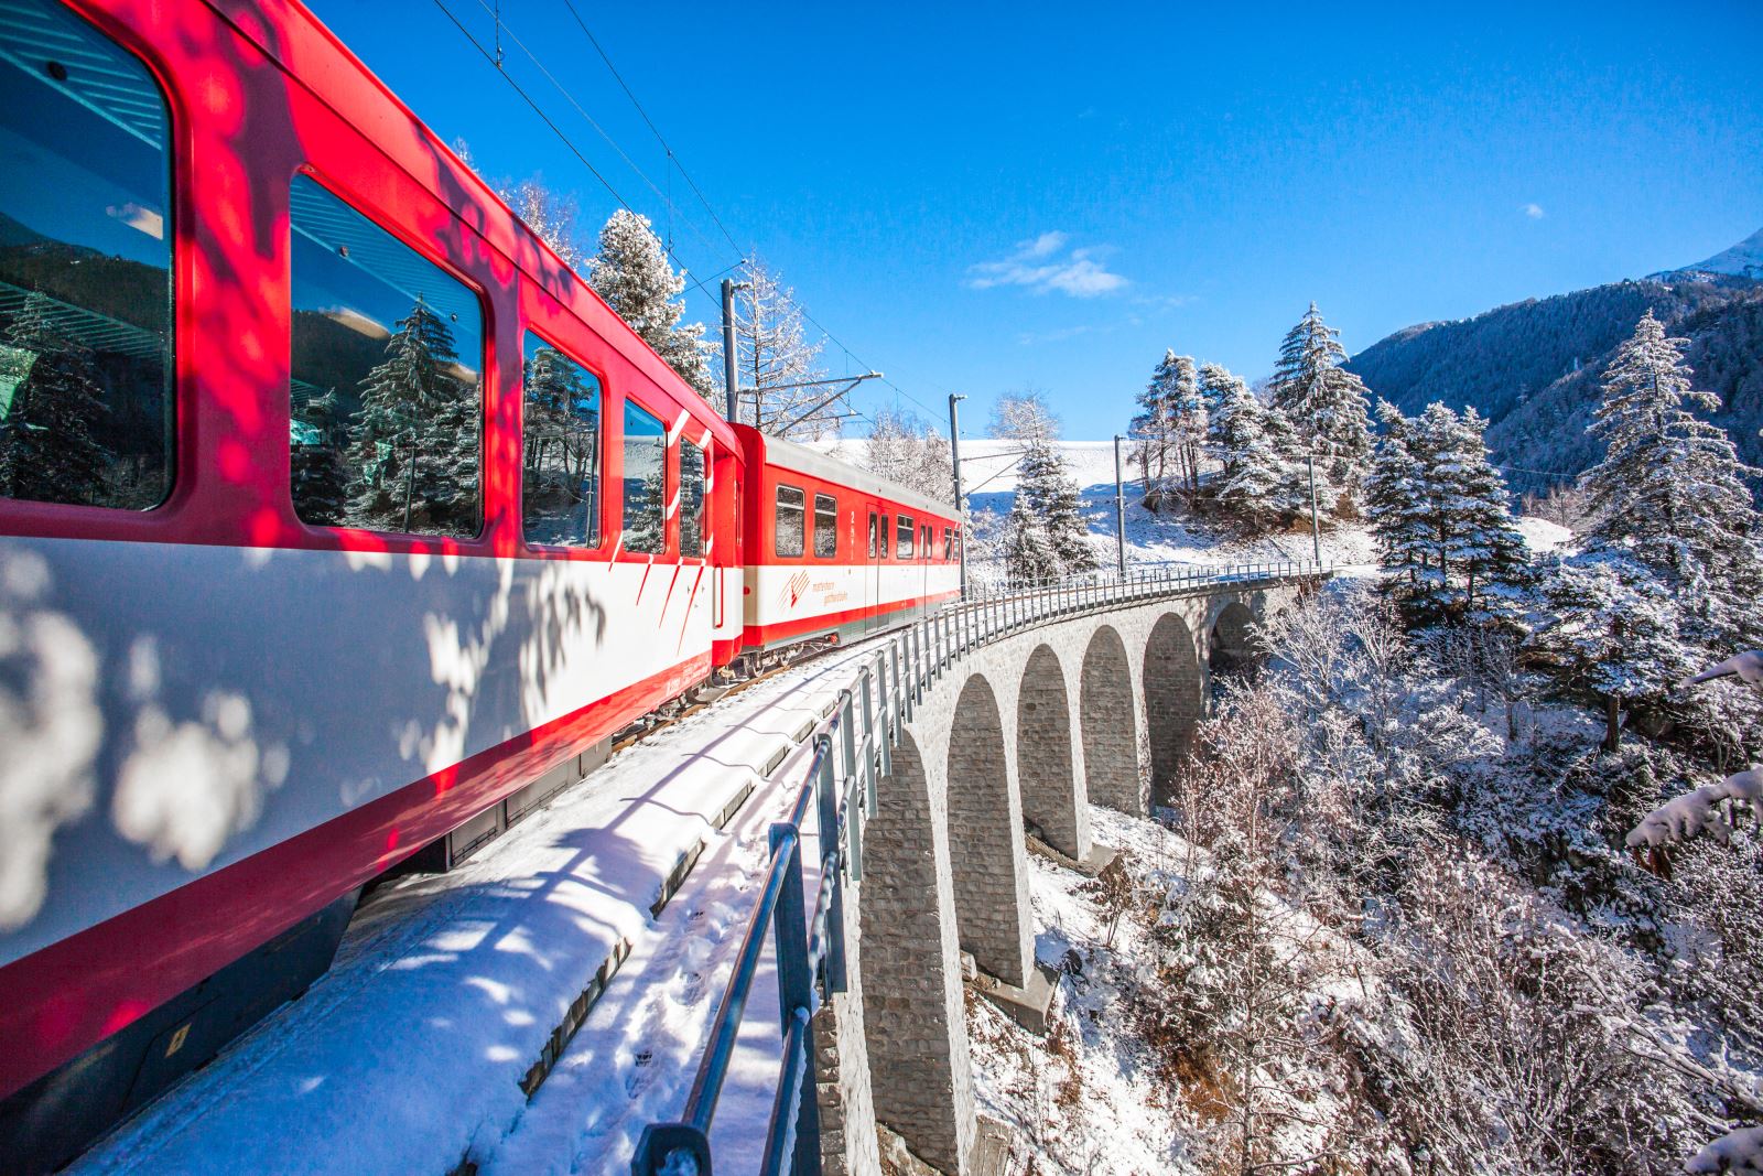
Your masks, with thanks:
[(1005, 984), (1028, 982), (1028, 848), (1023, 800), (1012, 786), (998, 695), (968, 677), (948, 732), (948, 864), (956, 929), (975, 963)]

